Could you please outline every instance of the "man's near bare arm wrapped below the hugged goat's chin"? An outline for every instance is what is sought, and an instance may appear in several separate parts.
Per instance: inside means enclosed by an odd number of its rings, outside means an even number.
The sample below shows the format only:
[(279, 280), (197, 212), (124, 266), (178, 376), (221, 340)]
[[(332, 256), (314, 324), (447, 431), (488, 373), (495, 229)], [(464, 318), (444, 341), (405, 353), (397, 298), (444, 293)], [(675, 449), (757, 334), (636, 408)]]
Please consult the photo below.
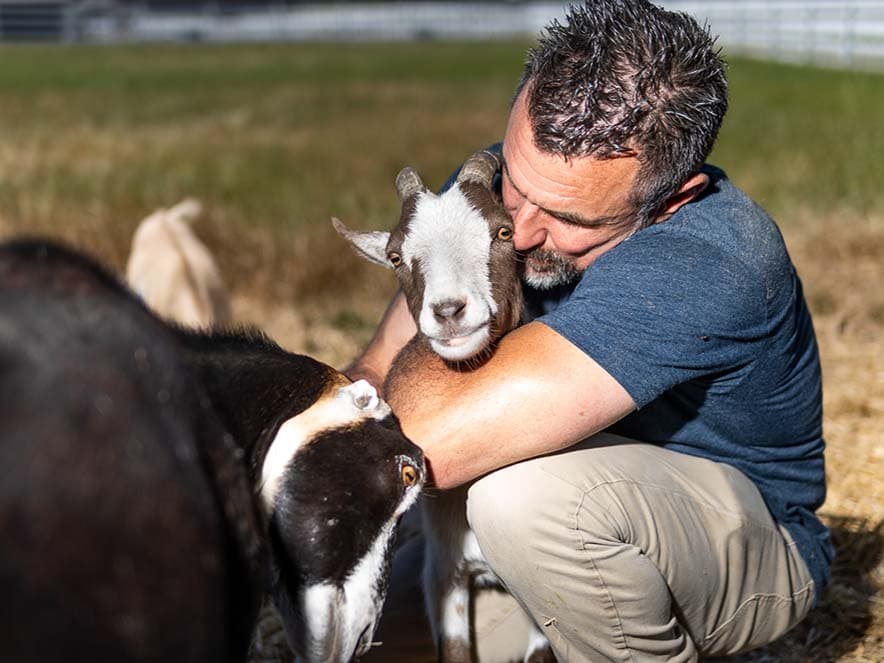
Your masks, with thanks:
[(426, 353), (387, 388), (439, 488), (564, 449), (635, 409), (599, 364), (539, 322), (506, 335), (474, 371), (453, 371)]

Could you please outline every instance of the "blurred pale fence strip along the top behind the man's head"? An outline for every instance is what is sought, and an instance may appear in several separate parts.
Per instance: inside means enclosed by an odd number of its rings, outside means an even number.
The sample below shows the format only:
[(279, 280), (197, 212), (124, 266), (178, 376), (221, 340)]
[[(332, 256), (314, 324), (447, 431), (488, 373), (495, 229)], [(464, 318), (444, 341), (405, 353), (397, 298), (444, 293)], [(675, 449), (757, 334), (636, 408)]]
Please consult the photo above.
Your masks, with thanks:
[[(884, 0), (657, 0), (729, 52), (884, 67)], [(536, 34), (567, 2), (282, 3), (0, 0), (0, 40), (497, 39)]]

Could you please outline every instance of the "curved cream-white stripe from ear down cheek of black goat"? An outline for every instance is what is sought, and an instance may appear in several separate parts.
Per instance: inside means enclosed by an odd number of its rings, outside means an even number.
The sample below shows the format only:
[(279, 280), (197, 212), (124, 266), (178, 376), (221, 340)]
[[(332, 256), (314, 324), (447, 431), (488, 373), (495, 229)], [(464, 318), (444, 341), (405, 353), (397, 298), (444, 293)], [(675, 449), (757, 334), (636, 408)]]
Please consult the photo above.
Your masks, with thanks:
[(304, 412), (283, 423), (261, 468), (261, 499), (267, 513), (273, 512), (285, 468), (305, 443), (332, 428), (358, 424), (365, 419), (381, 420), (390, 412), (390, 406), (378, 397), (375, 388), (359, 380), (336, 386)]

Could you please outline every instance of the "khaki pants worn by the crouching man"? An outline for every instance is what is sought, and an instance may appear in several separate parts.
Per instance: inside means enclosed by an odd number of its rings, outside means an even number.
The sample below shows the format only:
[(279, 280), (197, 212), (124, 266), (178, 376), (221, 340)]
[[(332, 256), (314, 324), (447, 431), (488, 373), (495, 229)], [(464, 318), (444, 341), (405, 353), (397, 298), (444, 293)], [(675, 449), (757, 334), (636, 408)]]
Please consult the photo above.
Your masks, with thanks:
[[(729, 465), (600, 434), (470, 488), (470, 523), (515, 597), (481, 592), (483, 663), (521, 660), (525, 613), (559, 661), (695, 661), (773, 641), (814, 585), (754, 484)], [(434, 660), (419, 537), (399, 551), (366, 661)], [(520, 607), (521, 606), (521, 609)]]

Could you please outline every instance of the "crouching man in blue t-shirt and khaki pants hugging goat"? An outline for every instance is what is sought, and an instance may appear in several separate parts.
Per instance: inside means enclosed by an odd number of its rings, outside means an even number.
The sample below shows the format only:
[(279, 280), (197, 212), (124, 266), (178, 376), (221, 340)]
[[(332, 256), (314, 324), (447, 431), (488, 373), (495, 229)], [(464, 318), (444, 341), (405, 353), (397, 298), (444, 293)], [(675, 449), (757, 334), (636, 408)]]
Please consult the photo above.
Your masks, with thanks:
[[(562, 661), (766, 644), (828, 579), (821, 380), (776, 226), (704, 166), (723, 64), (689, 17), (595, 0), (529, 55), (502, 200), (536, 317), (387, 398)], [(352, 373), (415, 332), (401, 295)]]

